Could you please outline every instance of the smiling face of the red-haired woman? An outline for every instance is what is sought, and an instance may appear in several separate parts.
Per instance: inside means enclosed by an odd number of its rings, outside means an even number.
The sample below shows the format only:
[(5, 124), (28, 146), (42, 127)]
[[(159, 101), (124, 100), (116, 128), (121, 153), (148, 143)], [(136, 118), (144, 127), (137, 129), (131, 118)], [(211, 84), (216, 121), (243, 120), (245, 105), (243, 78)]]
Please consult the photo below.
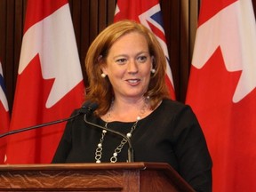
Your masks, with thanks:
[(107, 65), (102, 68), (115, 97), (141, 98), (148, 90), (152, 61), (144, 36), (137, 32), (121, 36), (110, 48)]

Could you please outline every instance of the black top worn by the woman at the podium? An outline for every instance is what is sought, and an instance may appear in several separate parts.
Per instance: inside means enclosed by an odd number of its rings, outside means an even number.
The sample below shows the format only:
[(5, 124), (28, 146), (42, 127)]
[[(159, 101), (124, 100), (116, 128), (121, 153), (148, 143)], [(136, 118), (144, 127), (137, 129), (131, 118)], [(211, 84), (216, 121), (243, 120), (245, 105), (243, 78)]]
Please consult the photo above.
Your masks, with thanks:
[[(77, 111), (73, 113), (76, 114)], [(93, 124), (105, 125), (99, 117), (88, 116)], [(108, 128), (126, 134), (132, 124), (108, 123)], [(86, 124), (84, 115), (69, 121), (52, 163), (95, 163), (95, 150), (101, 132)], [(110, 162), (122, 138), (110, 132), (103, 141), (102, 163)], [(163, 100), (149, 116), (141, 119), (132, 132), (135, 162), (170, 164), (196, 191), (212, 191), (212, 160), (204, 134), (193, 111), (187, 105)], [(127, 143), (117, 156), (117, 162), (127, 161)]]

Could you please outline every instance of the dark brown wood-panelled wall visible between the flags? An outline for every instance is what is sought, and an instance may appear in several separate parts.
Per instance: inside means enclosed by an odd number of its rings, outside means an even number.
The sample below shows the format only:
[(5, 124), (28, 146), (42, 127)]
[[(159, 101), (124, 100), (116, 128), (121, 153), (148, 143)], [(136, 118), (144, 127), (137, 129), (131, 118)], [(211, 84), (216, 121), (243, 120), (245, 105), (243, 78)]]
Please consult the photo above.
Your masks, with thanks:
[[(254, 10), (256, 0), (252, 0)], [(116, 0), (69, 0), (81, 66), (92, 40), (113, 22)], [(160, 0), (176, 98), (184, 102), (200, 0)], [(12, 111), (27, 0), (0, 0), (0, 60)]]

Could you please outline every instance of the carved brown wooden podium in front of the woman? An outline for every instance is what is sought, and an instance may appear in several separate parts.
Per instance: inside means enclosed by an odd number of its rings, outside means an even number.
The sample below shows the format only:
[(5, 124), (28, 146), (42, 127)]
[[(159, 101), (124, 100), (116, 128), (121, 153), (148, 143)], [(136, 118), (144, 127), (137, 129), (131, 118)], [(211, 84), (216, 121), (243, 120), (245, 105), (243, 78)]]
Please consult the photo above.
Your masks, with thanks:
[(169, 164), (0, 165), (0, 191), (194, 191)]

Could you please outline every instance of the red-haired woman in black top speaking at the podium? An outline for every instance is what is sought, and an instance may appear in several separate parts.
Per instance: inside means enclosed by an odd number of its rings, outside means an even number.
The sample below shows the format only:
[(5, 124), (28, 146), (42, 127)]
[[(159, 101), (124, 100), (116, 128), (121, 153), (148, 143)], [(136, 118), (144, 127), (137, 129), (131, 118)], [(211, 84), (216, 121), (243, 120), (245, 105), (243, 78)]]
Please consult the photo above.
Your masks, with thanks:
[[(129, 20), (110, 25), (92, 42), (85, 68), (85, 100), (99, 104), (89, 122), (127, 133), (135, 161), (171, 164), (197, 191), (211, 191), (204, 134), (191, 108), (169, 99), (164, 52), (148, 28)], [(125, 140), (81, 115), (68, 122), (52, 163), (126, 161)]]

